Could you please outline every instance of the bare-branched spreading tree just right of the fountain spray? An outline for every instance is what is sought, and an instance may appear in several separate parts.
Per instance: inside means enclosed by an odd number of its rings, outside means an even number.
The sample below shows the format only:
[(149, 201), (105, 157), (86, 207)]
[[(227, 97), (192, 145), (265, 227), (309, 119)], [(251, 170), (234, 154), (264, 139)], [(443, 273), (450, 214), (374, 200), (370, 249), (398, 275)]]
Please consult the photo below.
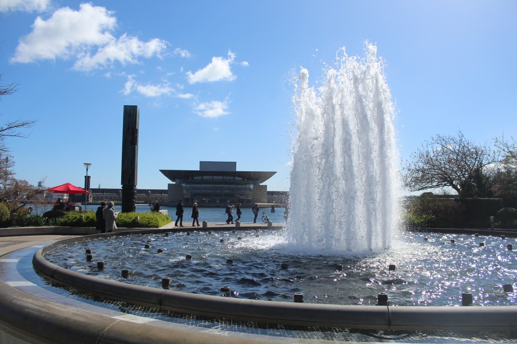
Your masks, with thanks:
[(487, 196), (490, 178), (485, 170), (498, 160), (498, 152), (466, 139), (461, 131), (436, 135), (410, 156), (402, 180), (410, 191), (450, 187), (462, 197)]

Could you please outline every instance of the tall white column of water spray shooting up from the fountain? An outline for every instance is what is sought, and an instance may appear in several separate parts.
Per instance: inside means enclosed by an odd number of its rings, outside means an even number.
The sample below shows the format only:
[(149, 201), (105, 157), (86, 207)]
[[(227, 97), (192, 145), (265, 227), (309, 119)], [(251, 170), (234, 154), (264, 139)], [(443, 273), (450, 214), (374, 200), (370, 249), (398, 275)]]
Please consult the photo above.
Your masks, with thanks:
[(287, 222), (297, 249), (382, 250), (399, 224), (394, 107), (376, 46), (366, 52), (343, 53), (317, 91), (300, 72)]

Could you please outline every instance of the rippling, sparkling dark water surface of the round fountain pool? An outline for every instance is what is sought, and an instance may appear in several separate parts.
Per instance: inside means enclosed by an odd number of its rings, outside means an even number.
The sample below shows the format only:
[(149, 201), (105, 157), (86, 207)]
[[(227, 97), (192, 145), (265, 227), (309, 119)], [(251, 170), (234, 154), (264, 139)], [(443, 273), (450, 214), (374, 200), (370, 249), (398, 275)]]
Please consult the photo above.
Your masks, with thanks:
[[(470, 291), (475, 305), (517, 302), (515, 293), (502, 288), (514, 284), (517, 274), (515, 252), (506, 249), (516, 244), (513, 238), (404, 233), (383, 253), (323, 256), (289, 251), (284, 237), (285, 231), (265, 230), (129, 235), (70, 244), (45, 257), (89, 275), (156, 288), (162, 277), (184, 292), (217, 296), (229, 286), (236, 298), (292, 301), (301, 292), (308, 303), (368, 305), (386, 292), (393, 305), (441, 306), (460, 305), (461, 293)], [(93, 251), (92, 262), (86, 262), (86, 247)], [(105, 262), (104, 271), (97, 270), (98, 260)], [(390, 264), (396, 270), (390, 271)], [(120, 276), (125, 268), (131, 271), (128, 279)]]

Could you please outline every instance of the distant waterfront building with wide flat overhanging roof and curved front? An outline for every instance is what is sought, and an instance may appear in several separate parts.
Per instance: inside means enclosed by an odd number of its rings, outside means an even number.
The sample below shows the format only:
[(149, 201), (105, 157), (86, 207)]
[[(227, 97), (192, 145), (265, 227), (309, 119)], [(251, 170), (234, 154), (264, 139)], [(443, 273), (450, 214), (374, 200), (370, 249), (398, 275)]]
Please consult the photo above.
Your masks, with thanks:
[(200, 161), (196, 170), (160, 170), (170, 179), (168, 202), (266, 203), (267, 185), (277, 172), (237, 171), (235, 161)]

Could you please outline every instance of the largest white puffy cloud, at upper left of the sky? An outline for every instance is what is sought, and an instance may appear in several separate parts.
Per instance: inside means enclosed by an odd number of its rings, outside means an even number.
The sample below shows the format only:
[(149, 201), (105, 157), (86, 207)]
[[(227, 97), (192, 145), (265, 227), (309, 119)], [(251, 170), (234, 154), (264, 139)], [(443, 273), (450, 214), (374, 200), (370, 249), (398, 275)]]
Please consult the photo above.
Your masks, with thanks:
[(114, 61), (138, 63), (139, 57), (160, 57), (166, 48), (166, 42), (160, 39), (142, 42), (126, 34), (117, 39), (112, 35), (115, 27), (113, 12), (104, 7), (81, 4), (79, 11), (60, 8), (48, 20), (36, 18), (33, 31), (20, 39), (11, 62), (77, 56), (74, 69), (88, 71), (106, 67)]

